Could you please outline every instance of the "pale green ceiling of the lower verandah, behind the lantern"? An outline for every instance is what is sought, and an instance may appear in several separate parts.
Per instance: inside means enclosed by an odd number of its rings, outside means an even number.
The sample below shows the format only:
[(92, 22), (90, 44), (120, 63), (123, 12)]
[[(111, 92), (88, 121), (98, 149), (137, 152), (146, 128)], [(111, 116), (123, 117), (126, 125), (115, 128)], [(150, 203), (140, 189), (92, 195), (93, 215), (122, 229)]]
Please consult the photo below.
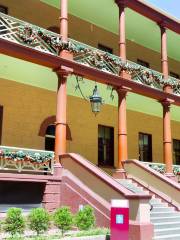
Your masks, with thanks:
[[(0, 55), (0, 62), (0, 78), (9, 79), (50, 91), (56, 91), (57, 77), (51, 69), (3, 54)], [(69, 77), (68, 94), (76, 97), (82, 97), (79, 90), (75, 90), (76, 85), (77, 82), (75, 76)], [(80, 83), (82, 92), (86, 97), (89, 97), (92, 94), (94, 85), (95, 83), (93, 81), (87, 79)], [(111, 91), (107, 89), (106, 85), (98, 84), (98, 88), (104, 99), (104, 104), (117, 106), (117, 95), (115, 92), (114, 99), (112, 100), (110, 98)], [(127, 96), (127, 108), (158, 117), (162, 116), (162, 108), (158, 102), (134, 93), (129, 93)], [(179, 107), (172, 107), (172, 119), (180, 122)]]

